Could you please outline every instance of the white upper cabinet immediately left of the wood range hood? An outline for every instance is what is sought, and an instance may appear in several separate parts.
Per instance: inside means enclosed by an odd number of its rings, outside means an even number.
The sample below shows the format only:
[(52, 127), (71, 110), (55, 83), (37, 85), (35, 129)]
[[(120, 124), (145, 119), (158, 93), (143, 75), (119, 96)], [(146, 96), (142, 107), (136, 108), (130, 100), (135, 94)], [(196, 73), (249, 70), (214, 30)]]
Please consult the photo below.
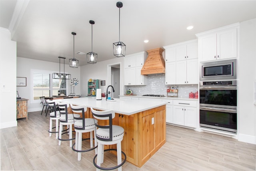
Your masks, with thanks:
[(148, 84), (148, 76), (140, 74), (146, 58), (146, 52), (139, 52), (124, 57), (124, 85)]

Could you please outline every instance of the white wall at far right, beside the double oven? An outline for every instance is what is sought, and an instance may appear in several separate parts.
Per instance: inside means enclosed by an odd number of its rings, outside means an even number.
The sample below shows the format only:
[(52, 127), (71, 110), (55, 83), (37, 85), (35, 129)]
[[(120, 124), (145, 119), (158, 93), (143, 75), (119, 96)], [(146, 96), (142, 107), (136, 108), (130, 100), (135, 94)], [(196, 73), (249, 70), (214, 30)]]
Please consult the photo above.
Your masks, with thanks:
[(256, 106), (253, 104), (253, 84), (256, 81), (256, 18), (240, 23), (238, 67), (238, 140), (256, 144)]

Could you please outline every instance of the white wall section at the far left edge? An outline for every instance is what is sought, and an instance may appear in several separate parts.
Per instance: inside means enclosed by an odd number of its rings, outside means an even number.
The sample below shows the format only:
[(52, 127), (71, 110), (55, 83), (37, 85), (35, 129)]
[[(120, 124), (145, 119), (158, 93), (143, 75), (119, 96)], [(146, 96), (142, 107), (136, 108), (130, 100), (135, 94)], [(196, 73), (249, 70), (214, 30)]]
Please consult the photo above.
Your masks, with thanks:
[(7, 29), (0, 28), (0, 125), (17, 126), (16, 121), (16, 42)]

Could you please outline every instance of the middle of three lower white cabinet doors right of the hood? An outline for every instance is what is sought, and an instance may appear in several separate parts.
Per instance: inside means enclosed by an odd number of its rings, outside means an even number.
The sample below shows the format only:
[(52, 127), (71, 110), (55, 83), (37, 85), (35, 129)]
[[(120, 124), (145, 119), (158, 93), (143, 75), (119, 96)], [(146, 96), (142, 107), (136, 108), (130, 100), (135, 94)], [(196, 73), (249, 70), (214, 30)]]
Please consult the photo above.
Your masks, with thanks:
[(187, 84), (187, 62), (176, 62), (176, 84)]

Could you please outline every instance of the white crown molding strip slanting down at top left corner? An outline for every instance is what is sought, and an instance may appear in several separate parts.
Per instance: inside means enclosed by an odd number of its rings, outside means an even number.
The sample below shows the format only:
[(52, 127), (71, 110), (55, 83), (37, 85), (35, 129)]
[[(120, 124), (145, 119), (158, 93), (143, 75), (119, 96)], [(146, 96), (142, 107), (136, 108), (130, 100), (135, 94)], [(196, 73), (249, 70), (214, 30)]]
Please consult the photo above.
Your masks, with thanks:
[(12, 19), (9, 25), (9, 31), (11, 32), (11, 38), (13, 38), (16, 29), (23, 17), (23, 14), (28, 6), (29, 0), (18, 0), (12, 14)]

